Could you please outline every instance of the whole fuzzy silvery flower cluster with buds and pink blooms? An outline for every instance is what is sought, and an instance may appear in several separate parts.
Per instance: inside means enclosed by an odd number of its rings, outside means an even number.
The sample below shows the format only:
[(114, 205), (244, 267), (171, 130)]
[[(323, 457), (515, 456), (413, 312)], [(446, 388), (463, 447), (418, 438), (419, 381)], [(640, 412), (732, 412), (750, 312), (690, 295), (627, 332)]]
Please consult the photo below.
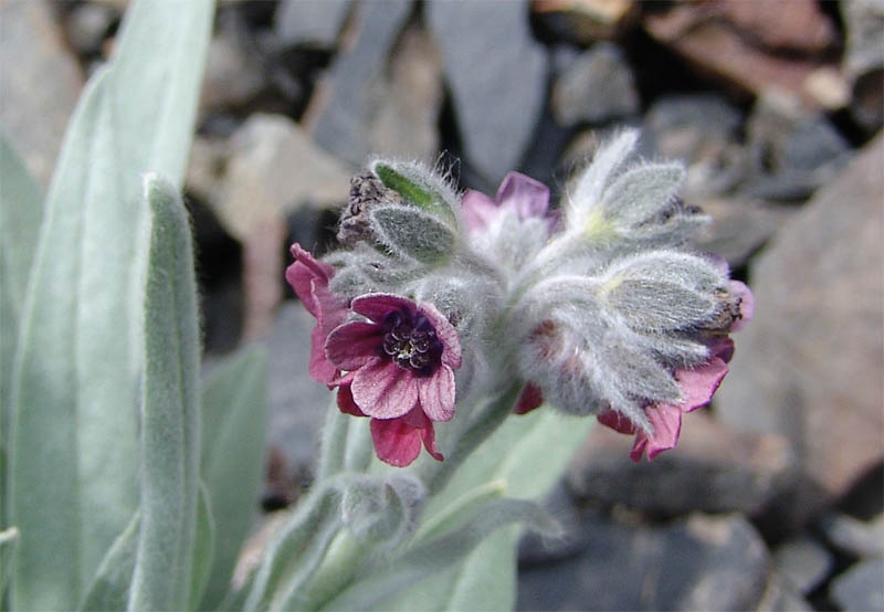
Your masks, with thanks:
[(351, 181), (341, 249), (292, 246), (286, 278), (317, 320), (311, 374), (370, 418), (382, 461), (442, 461), (434, 423), (516, 380), (515, 413), (594, 415), (635, 436), (635, 461), (708, 404), (753, 296), (692, 249), (708, 218), (677, 198), (683, 168), (633, 160), (635, 141), (600, 147), (555, 210), (517, 172), (490, 198), (376, 160)]

